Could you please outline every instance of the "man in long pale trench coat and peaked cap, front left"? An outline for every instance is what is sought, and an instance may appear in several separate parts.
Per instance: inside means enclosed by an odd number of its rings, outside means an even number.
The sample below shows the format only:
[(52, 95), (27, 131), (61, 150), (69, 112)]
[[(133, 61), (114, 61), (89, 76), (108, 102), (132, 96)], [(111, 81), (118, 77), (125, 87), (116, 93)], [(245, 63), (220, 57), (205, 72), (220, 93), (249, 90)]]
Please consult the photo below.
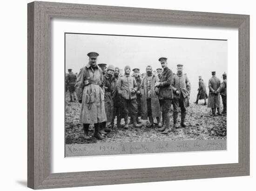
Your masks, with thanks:
[(88, 128), (94, 123), (94, 137), (103, 139), (99, 131), (99, 124), (107, 121), (104, 105), (104, 91), (102, 89), (103, 74), (102, 70), (97, 66), (97, 52), (89, 52), (89, 63), (81, 68), (76, 85), (82, 90), (80, 122), (83, 124), (85, 139), (89, 139)]

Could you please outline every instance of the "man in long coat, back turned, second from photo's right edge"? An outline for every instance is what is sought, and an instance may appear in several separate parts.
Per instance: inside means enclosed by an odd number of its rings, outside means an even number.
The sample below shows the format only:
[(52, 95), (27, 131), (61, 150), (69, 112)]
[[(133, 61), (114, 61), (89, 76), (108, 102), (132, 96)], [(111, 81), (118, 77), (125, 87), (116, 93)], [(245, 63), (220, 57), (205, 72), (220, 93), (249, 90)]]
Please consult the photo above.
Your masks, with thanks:
[(208, 108), (212, 108), (212, 115), (216, 114), (216, 108), (218, 110), (218, 115), (220, 113), (220, 94), (217, 89), (220, 87), (221, 81), (216, 76), (216, 72), (212, 71), (212, 77), (209, 79), (209, 98), (208, 98)]

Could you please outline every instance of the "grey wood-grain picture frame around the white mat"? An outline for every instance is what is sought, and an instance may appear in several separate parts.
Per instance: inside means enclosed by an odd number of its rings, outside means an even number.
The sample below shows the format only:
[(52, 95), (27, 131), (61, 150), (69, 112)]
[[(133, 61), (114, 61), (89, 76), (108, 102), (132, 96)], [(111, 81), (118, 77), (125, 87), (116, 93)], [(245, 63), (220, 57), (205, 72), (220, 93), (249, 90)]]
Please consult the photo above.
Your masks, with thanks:
[[(249, 15), (201, 13), (54, 2), (29, 3), (27, 82), (27, 185), (33, 189), (114, 185), (249, 175)], [(51, 18), (238, 28), (238, 163), (92, 172), (51, 173)]]

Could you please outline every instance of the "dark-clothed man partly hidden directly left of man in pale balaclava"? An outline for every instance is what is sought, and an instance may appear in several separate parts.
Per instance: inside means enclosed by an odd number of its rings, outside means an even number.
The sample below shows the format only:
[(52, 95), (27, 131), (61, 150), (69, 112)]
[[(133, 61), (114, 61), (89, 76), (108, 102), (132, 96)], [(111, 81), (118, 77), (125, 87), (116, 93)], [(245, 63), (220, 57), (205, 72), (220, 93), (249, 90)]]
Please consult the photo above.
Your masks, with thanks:
[(116, 83), (119, 78), (119, 68), (115, 67), (115, 74), (113, 76), (113, 102), (114, 102), (114, 107), (113, 107), (113, 118), (111, 121), (111, 126), (112, 128), (114, 127), (114, 120), (116, 116), (116, 125), (117, 128), (121, 127), (121, 116), (122, 116), (122, 109), (123, 109), (123, 102), (121, 96), (118, 94), (117, 89), (116, 89)]

